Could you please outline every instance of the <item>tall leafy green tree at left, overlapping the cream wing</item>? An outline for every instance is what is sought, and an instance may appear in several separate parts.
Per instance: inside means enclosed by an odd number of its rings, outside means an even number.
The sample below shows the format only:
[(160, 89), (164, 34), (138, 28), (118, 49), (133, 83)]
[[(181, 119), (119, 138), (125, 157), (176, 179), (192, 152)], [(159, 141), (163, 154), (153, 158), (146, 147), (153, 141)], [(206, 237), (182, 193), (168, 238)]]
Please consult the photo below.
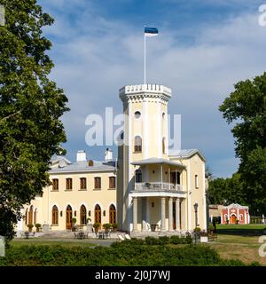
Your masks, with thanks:
[(48, 75), (51, 42), (42, 28), (53, 19), (35, 0), (0, 0), (0, 235), (11, 240), (24, 204), (49, 184), (52, 154), (66, 135), (66, 96)]

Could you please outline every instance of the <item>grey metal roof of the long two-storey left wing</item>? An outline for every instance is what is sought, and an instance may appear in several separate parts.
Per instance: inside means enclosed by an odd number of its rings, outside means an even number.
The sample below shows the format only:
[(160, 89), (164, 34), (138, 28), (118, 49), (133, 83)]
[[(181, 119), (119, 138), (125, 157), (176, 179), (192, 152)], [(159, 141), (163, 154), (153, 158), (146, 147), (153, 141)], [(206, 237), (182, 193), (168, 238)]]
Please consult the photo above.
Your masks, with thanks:
[(89, 166), (86, 161), (74, 162), (64, 167), (53, 168), (49, 173), (74, 173), (74, 172), (90, 172), (90, 171), (113, 171), (115, 170), (115, 162), (98, 162), (93, 161), (93, 165)]

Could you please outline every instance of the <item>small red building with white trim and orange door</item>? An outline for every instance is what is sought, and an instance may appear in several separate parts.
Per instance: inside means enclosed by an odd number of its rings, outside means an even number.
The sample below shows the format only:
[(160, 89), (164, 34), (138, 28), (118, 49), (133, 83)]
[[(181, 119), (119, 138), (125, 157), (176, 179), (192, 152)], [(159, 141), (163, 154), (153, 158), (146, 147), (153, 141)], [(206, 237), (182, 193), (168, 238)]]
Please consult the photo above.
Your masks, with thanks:
[(241, 206), (232, 203), (229, 206), (223, 206), (221, 215), (221, 224), (249, 224), (250, 217), (248, 206)]

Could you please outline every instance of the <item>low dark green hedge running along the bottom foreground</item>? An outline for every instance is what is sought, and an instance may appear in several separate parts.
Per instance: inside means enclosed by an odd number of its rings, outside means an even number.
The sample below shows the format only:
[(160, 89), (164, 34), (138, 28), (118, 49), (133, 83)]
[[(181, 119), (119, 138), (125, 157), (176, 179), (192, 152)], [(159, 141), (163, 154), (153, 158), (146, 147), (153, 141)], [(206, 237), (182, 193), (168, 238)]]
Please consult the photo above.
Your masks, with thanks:
[(140, 242), (128, 241), (127, 246), (124, 245), (126, 242), (121, 242), (110, 248), (66, 248), (59, 245), (11, 247), (6, 249), (5, 257), (0, 257), (0, 266), (244, 265), (238, 260), (223, 260), (215, 249), (206, 246), (187, 245), (172, 248)]

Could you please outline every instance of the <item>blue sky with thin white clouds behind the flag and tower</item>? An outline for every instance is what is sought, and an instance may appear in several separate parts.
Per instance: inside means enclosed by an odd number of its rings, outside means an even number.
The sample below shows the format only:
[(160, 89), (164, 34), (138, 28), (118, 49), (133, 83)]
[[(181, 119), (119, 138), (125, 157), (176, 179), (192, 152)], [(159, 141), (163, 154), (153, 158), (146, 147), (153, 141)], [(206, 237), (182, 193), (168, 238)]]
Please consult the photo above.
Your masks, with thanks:
[[(85, 149), (103, 160), (106, 146), (87, 146), (88, 114), (113, 106), (119, 89), (143, 83), (144, 26), (147, 82), (172, 89), (169, 114), (182, 115), (182, 148), (199, 148), (215, 177), (238, 170), (231, 126), (218, 111), (234, 83), (261, 75), (266, 66), (266, 27), (258, 25), (262, 1), (243, 0), (39, 0), (55, 19), (44, 28), (53, 44), (52, 80), (71, 111), (62, 118), (67, 157)], [(265, 1), (266, 4), (266, 1)], [(114, 154), (116, 153), (113, 146)]]

